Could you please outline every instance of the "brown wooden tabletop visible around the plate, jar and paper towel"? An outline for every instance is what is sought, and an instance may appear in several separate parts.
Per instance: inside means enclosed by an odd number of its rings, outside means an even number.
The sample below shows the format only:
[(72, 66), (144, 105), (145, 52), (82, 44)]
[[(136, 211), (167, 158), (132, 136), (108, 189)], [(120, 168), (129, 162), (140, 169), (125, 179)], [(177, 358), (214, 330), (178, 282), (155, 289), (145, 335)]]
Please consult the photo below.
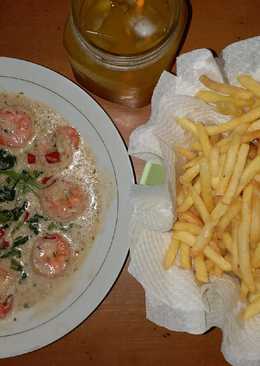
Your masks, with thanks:
[[(158, 0), (159, 1), (159, 0)], [(193, 15), (182, 52), (208, 47), (219, 52), (231, 42), (259, 33), (258, 0), (193, 0)], [(0, 55), (43, 64), (73, 79), (62, 32), (69, 0), (1, 0)], [(100, 100), (125, 141), (148, 118), (149, 107), (128, 110)], [(141, 163), (135, 162), (137, 175)], [(145, 319), (144, 292), (122, 271), (112, 291), (83, 324), (39, 351), (1, 360), (22, 365), (226, 365), (221, 332), (192, 336), (170, 332)]]

